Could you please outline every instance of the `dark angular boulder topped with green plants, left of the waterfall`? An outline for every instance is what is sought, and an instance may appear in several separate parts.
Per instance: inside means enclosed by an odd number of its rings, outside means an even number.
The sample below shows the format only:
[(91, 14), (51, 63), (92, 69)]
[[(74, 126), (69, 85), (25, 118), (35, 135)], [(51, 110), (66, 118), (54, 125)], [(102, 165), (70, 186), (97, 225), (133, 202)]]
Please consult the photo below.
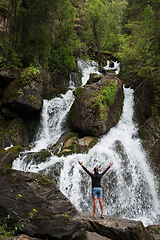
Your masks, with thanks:
[[(5, 115), (7, 111), (3, 109), (8, 108), (20, 115), (30, 116), (31, 118), (32, 114), (39, 113), (42, 109), (42, 95), (43, 89), (39, 70), (36, 68), (26, 69), (20, 77), (5, 88), (2, 99), (2, 112)], [(8, 114), (11, 115), (11, 112), (6, 114), (7, 116)]]

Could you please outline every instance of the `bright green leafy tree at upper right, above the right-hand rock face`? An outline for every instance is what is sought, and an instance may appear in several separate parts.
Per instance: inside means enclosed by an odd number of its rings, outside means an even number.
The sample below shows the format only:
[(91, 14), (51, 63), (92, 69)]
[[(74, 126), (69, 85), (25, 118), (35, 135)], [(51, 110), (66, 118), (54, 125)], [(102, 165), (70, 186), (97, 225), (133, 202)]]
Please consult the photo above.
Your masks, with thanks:
[(153, 43), (155, 17), (152, 7), (148, 5), (142, 12), (142, 20), (128, 23), (126, 28), (131, 34), (121, 37), (118, 56), (123, 63), (134, 64), (139, 76), (147, 76), (154, 69), (157, 58)]

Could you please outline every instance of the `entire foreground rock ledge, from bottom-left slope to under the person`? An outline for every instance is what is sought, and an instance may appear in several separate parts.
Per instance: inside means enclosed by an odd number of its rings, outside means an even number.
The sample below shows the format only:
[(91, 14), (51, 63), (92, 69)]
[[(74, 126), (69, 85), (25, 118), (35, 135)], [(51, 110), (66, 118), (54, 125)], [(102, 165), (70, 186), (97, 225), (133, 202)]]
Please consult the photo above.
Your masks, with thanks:
[(80, 213), (47, 176), (0, 167), (0, 182), (0, 218), (29, 236), (17, 239), (155, 239), (140, 221)]

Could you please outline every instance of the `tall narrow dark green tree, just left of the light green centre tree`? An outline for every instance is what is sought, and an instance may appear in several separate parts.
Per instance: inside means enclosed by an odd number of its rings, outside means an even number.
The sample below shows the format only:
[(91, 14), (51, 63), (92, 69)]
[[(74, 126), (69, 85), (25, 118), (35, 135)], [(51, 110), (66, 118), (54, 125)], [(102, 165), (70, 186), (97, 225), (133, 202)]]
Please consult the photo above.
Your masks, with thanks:
[(76, 67), (74, 52), (80, 46), (74, 31), (76, 9), (69, 0), (59, 1), (54, 8), (53, 42), (51, 45), (49, 66), (59, 73), (67, 75)]

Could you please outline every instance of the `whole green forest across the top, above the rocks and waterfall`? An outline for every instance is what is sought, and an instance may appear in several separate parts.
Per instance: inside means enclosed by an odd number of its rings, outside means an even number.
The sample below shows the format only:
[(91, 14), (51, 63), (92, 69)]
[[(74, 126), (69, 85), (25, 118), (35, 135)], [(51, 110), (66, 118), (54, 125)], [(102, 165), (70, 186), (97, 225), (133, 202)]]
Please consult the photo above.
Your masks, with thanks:
[(160, 0), (2, 0), (0, 67), (39, 66), (64, 76), (76, 58), (111, 52), (150, 82), (160, 108)]

